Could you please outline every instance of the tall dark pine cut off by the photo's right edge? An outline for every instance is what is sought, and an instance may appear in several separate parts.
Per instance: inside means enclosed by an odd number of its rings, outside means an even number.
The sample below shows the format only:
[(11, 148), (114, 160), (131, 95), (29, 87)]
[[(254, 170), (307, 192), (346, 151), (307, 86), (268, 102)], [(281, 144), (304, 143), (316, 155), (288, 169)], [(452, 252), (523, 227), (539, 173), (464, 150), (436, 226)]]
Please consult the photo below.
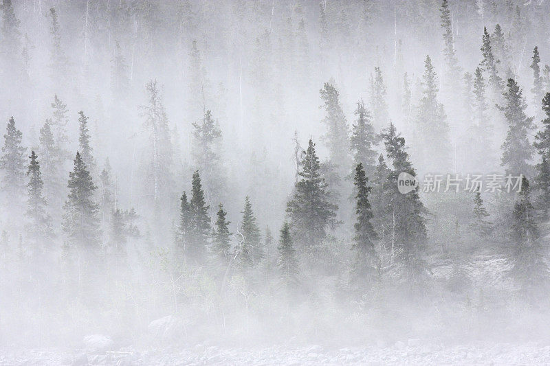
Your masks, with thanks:
[(544, 95), (542, 111), (547, 115), (545, 119), (542, 119), (544, 129), (535, 135), (533, 146), (542, 157), (542, 161), (535, 166), (535, 182), (540, 192), (537, 206), (542, 210), (542, 219), (548, 220), (548, 207), (550, 206), (550, 93)]

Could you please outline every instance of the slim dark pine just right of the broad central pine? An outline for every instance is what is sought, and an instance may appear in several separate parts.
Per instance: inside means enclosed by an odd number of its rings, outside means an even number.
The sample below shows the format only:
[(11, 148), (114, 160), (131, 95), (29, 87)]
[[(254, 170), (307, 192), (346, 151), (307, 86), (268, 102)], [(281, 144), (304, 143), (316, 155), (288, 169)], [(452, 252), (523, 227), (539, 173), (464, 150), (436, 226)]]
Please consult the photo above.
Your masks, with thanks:
[(378, 259), (374, 249), (374, 240), (377, 235), (373, 228), (371, 220), (373, 219), (373, 211), (369, 196), (372, 188), (368, 186), (369, 178), (366, 177), (363, 166), (359, 163), (355, 167), (355, 188), (357, 195), (355, 196), (355, 214), (357, 214), (357, 222), (355, 222), (355, 237), (351, 249), (355, 251), (355, 266), (352, 270), (352, 275), (358, 284), (372, 282), (376, 277)]

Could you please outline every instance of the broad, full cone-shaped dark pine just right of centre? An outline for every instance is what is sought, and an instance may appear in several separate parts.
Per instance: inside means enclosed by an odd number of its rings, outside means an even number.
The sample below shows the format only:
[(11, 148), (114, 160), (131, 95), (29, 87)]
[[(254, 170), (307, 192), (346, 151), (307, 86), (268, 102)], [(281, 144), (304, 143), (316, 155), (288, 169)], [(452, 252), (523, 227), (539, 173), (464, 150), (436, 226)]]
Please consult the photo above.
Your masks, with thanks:
[(311, 139), (302, 160), (300, 181), (294, 187), (294, 195), (287, 203), (294, 237), (311, 249), (325, 238), (327, 227), (334, 225), (337, 205), (330, 203), (327, 183), (320, 174), (319, 159)]

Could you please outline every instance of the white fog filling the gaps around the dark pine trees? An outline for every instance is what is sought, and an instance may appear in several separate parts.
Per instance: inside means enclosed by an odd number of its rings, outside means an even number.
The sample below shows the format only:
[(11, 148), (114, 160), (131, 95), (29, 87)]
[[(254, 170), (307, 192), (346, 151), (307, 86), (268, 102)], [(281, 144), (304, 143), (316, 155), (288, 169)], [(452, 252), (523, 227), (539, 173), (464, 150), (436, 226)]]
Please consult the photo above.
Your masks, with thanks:
[[(437, 73), (439, 102), (450, 126), (452, 162), (448, 170), (439, 173), (504, 174), (500, 146), (507, 124), (494, 103), (489, 105), (494, 125), (489, 150), (494, 154), (483, 167), (469, 157), (474, 143), (469, 139), (472, 119), (463, 108), (463, 74), (473, 75), (482, 60), (483, 27), (492, 33), (499, 23), (510, 43), (511, 71), (522, 88), (527, 115), (535, 117), (536, 128), (529, 133), (532, 141), (542, 128), (542, 112), (531, 91), (529, 65), (535, 46), (541, 69), (550, 63), (550, 6), (546, 1), (450, 0), (454, 47), (461, 67), (459, 82), (453, 84), (443, 54), (439, 0), (28, 0), (13, 1), (12, 7), (20, 21), (19, 53), (8, 54), (5, 43), (0, 43), (1, 129), (13, 116), (23, 133), (25, 157), (38, 150), (40, 130), (45, 119), (52, 118), (56, 94), (67, 104), (71, 157), (63, 165), (62, 201), (45, 197), (53, 238), (39, 244), (31, 244), (28, 238), (26, 176), (21, 207), (9, 205), (7, 193), (1, 193), (0, 365), (23, 363), (14, 350), (25, 354), (36, 349), (64, 355), (37, 361), (52, 364), (71, 364), (82, 352), (89, 356), (135, 350), (190, 350), (185, 357), (195, 362), (254, 364), (259, 360), (254, 354), (248, 359), (228, 356), (225, 361), (195, 356), (205, 352), (203, 346), (248, 352), (261, 347), (307, 350), (310, 345), (320, 345), (327, 349), (373, 347), (371, 352), (375, 352), (398, 349), (401, 344), (414, 348), (416, 340), (445, 347), (536, 342), (540, 350), (550, 345), (548, 293), (541, 289), (536, 291), (540, 295), (536, 300), (525, 299), (509, 275), (513, 250), (506, 220), (514, 209), (514, 195), (483, 195), (496, 229), (490, 239), (480, 240), (468, 231), (472, 194), (421, 194), (429, 211), (426, 282), (413, 288), (390, 270), (368, 293), (357, 294), (348, 286), (355, 234), (353, 179), (344, 176), (344, 188), (337, 198), (337, 218), (342, 222), (328, 231), (319, 258), (298, 253), (300, 289), (296, 293), (287, 295), (281, 290), (276, 267), (279, 231), (288, 219), (285, 209), (296, 181), (295, 133), (300, 149), (313, 139), (320, 161), (329, 159), (324, 139), (327, 126), (322, 123), (325, 108), (319, 93), (325, 82), (338, 89), (351, 129), (359, 100), (371, 111), (371, 78), (375, 67), (380, 67), (389, 119), (405, 138), (418, 176), (423, 176), (430, 168), (415, 160), (415, 144), (432, 141), (422, 141), (415, 130), (415, 116), (424, 60), (429, 55)], [(52, 67), (50, 8), (58, 15), (61, 47), (67, 56), (67, 69), (61, 73)], [(326, 38), (320, 8), (327, 14)], [(0, 20), (0, 27), (2, 24)], [(3, 37), (5, 34), (0, 34), (0, 41)], [(201, 60), (199, 87), (190, 56), (193, 42)], [(122, 74), (128, 80), (123, 93), (117, 93), (112, 84), (117, 44), (126, 64)], [(28, 50), (29, 63), (23, 73), (17, 73), (12, 64), (6, 65), (10, 60), (23, 64), (23, 47)], [(403, 107), (404, 73), (412, 92), (410, 115)], [(168, 188), (160, 207), (155, 207), (151, 198), (151, 130), (143, 109), (148, 106), (146, 84), (151, 80), (157, 82), (162, 95), (173, 146), (173, 159), (165, 167), (171, 181), (162, 183)], [(223, 181), (219, 183), (223, 190), (206, 192), (212, 225), (218, 205), (223, 203), (231, 222), (232, 245), (239, 244), (241, 211), (245, 196), (250, 196), (262, 240), (266, 227), (274, 237), (272, 246), (265, 249), (267, 258), (248, 274), (231, 265), (227, 271), (225, 266), (223, 271), (214, 270), (219, 264), (212, 258), (185, 267), (174, 260), (179, 197), (186, 191), (190, 198), (192, 173), (198, 168), (192, 123), (200, 122), (206, 110), (212, 111), (221, 130), (216, 150), (221, 157)], [(61, 224), (67, 180), (79, 148), (79, 111), (89, 116), (97, 166), (91, 172), (94, 183), (100, 187), (100, 173), (108, 158), (113, 205), (135, 209), (140, 233), (124, 244), (124, 260), (114, 260), (109, 249), (111, 219), (109, 214), (101, 216), (102, 247), (84, 277), (78, 270), (80, 262), (72, 266), (64, 262), (63, 246), (69, 241)], [(373, 126), (375, 133), (388, 127), (377, 121)], [(386, 153), (382, 142), (375, 150)], [(534, 155), (531, 164), (538, 160), (539, 155)], [(349, 176), (352, 173), (349, 170)], [(95, 196), (98, 201), (100, 191), (98, 188)], [(542, 222), (540, 241), (545, 253), (547, 231), (547, 223)], [(380, 249), (379, 242), (376, 247)], [(151, 323), (158, 319), (164, 320)], [(93, 334), (109, 339), (107, 345), (89, 350), (91, 341), (83, 340)], [(197, 344), (201, 347), (195, 347)], [(421, 361), (409, 356), (404, 353), (378, 361), (443, 362), (442, 358)], [(496, 355), (487, 357), (481, 362), (496, 359)], [(265, 358), (264, 362), (292, 363), (291, 358)], [(115, 363), (113, 358), (105, 362)], [(135, 358), (128, 362), (159, 361)], [(184, 361), (174, 358), (164, 362)], [(296, 362), (320, 361), (298, 358)], [(366, 358), (334, 358), (331, 362), (362, 363)], [(461, 363), (459, 358), (446, 362)], [(476, 363), (472, 359), (462, 362)], [(508, 362), (500, 359), (500, 363)]]

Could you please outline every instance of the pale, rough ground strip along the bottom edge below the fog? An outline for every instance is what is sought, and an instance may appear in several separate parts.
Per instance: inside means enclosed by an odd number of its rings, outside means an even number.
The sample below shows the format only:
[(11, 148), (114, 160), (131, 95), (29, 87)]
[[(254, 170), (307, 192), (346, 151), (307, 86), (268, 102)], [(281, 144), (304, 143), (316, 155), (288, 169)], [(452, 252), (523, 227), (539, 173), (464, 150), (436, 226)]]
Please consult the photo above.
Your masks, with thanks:
[(121, 349), (107, 352), (0, 350), (0, 365), (549, 365), (550, 345), (477, 343), (422, 345), (417, 340), (392, 347), (328, 349), (269, 347), (222, 348), (197, 345), (184, 349)]

